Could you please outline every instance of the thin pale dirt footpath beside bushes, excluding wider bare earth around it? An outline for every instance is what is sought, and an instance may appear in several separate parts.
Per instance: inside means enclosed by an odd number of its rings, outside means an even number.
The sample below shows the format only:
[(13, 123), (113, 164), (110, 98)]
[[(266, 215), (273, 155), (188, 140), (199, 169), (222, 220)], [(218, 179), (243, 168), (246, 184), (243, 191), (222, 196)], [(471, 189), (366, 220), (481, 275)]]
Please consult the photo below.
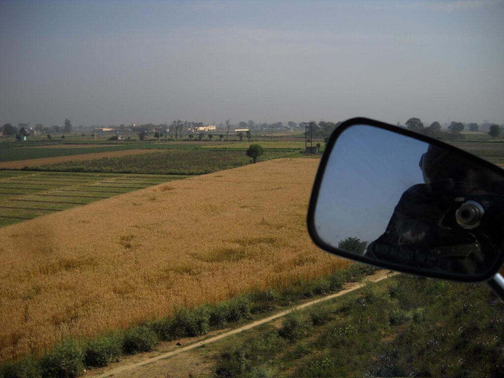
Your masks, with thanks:
[[(322, 297), (322, 298), (311, 300), (309, 302), (306, 302), (306, 303), (303, 303), (303, 304), (291, 307), (291, 308), (289, 308), (287, 310), (278, 312), (278, 313), (276, 313), (274, 315), (271, 315), (271, 316), (269, 316), (267, 318), (260, 319), (260, 320), (257, 320), (255, 322), (249, 323), (249, 324), (247, 324), (247, 325), (245, 325), (243, 327), (223, 332), (223, 333), (221, 333), (219, 335), (210, 337), (210, 338), (202, 340), (202, 341), (196, 341), (196, 342), (192, 343), (191, 345), (187, 345), (187, 346), (175, 349), (175, 350), (171, 350), (169, 352), (161, 353), (161, 354), (159, 354), (159, 355), (157, 355), (155, 357), (146, 358), (146, 359), (143, 359), (143, 360), (135, 362), (135, 363), (128, 363), (128, 361), (124, 361), (124, 362), (126, 362), (125, 364), (120, 365), (120, 366), (116, 366), (116, 367), (114, 367), (114, 368), (112, 368), (110, 370), (107, 370), (105, 372), (102, 372), (99, 375), (94, 375), (94, 376), (97, 377), (97, 378), (105, 378), (105, 377), (109, 377), (109, 376), (112, 376), (112, 375), (115, 376), (116, 374), (121, 373), (121, 372), (132, 370), (132, 369), (138, 368), (140, 366), (145, 366), (147, 364), (152, 364), (152, 363), (154, 363), (156, 361), (166, 359), (166, 358), (174, 356), (176, 354), (179, 354), (179, 353), (182, 353), (182, 352), (194, 349), (194, 348), (198, 348), (198, 347), (201, 347), (201, 346), (213, 343), (213, 342), (221, 340), (221, 339), (223, 339), (225, 337), (228, 337), (228, 336), (240, 333), (242, 331), (249, 330), (251, 328), (258, 327), (258, 326), (260, 326), (262, 324), (265, 324), (265, 323), (271, 322), (273, 320), (279, 319), (281, 317), (284, 317), (284, 316), (286, 316), (288, 313), (290, 313), (292, 311), (300, 310), (300, 309), (312, 306), (314, 304), (320, 303), (322, 301), (330, 300), (330, 299), (333, 299), (333, 298), (336, 298), (336, 297), (348, 294), (348, 293), (350, 293), (350, 292), (352, 292), (354, 290), (360, 289), (368, 281), (370, 281), (370, 282), (379, 282), (379, 281), (382, 281), (382, 280), (384, 280), (386, 278), (392, 277), (394, 275), (395, 275), (395, 273), (387, 273), (387, 271), (385, 271), (385, 270), (378, 271), (374, 275), (367, 277), (366, 279), (364, 279), (361, 282), (353, 282), (353, 283), (349, 283), (349, 284), (345, 285), (345, 288), (343, 290), (341, 290), (341, 291), (339, 291), (339, 292), (337, 292), (335, 294), (331, 294), (331, 295), (327, 295), (327, 296)], [(150, 354), (152, 355), (152, 353), (150, 353)], [(91, 375), (91, 376), (93, 376), (93, 375)]]

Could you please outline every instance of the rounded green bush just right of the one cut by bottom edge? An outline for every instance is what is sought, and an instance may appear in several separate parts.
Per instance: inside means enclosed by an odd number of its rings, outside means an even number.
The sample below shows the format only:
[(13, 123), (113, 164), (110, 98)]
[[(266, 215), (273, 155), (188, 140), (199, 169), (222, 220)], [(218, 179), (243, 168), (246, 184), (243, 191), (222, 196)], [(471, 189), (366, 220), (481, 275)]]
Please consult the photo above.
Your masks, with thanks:
[(102, 336), (87, 343), (84, 352), (86, 366), (107, 366), (118, 361), (122, 352), (122, 338), (118, 333)]

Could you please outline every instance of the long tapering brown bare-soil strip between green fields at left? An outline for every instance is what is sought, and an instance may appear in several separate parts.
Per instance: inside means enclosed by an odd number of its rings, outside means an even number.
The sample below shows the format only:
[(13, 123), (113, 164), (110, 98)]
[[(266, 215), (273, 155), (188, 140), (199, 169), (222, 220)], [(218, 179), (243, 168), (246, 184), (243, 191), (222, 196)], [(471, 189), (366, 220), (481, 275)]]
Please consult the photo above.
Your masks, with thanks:
[(141, 155), (141, 154), (148, 154), (149, 152), (155, 152), (155, 151), (158, 151), (158, 150), (142, 149), (142, 150), (108, 151), (108, 152), (95, 152), (95, 153), (91, 153), (91, 154), (54, 156), (54, 157), (50, 157), (50, 158), (4, 161), (4, 162), (0, 162), (0, 168), (21, 169), (26, 166), (36, 167), (38, 165), (64, 163), (66, 161), (93, 160), (93, 159), (101, 159), (101, 158), (105, 158), (105, 157), (107, 157), (107, 158), (108, 157), (118, 157), (118, 156), (124, 156), (124, 155)]

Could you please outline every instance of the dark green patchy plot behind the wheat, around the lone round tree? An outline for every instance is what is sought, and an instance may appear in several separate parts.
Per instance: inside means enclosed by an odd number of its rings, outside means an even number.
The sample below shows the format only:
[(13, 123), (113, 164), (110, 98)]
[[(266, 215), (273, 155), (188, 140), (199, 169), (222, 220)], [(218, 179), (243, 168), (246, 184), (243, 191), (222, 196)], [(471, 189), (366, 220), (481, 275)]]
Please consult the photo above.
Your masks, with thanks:
[[(166, 150), (148, 155), (127, 155), (99, 160), (68, 161), (39, 166), (46, 171), (120, 172), (153, 174), (205, 174), (250, 163), (243, 151)], [(266, 151), (259, 160), (288, 156), (285, 151)]]

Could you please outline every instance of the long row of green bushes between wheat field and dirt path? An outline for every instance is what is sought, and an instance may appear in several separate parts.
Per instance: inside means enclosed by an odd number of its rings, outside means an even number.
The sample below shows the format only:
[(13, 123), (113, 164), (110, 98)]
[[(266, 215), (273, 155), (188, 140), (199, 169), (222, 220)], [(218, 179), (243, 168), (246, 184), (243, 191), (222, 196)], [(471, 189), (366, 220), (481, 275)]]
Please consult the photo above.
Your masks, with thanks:
[(345, 282), (361, 280), (373, 272), (373, 268), (353, 265), (316, 280), (293, 282), (281, 292), (274, 289), (254, 291), (191, 310), (181, 308), (174, 317), (145, 322), (139, 327), (125, 331), (111, 331), (94, 340), (65, 339), (43, 356), (28, 356), (14, 363), (4, 364), (0, 367), (0, 372), (5, 378), (79, 376), (86, 367), (106, 366), (118, 360), (122, 354), (150, 351), (161, 340), (202, 336), (211, 330), (249, 322), (279, 306), (289, 306), (296, 300), (337, 292)]

